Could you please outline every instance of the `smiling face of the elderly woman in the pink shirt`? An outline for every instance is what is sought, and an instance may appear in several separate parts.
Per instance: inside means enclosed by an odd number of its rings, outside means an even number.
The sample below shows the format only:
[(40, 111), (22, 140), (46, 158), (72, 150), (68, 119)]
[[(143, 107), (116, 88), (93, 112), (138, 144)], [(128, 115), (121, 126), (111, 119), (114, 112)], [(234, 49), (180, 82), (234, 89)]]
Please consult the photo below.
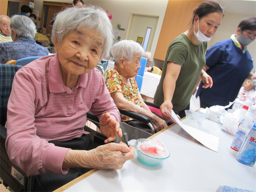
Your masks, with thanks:
[(62, 70), (75, 75), (88, 73), (98, 64), (103, 45), (104, 39), (94, 30), (76, 30), (60, 43), (55, 40)]

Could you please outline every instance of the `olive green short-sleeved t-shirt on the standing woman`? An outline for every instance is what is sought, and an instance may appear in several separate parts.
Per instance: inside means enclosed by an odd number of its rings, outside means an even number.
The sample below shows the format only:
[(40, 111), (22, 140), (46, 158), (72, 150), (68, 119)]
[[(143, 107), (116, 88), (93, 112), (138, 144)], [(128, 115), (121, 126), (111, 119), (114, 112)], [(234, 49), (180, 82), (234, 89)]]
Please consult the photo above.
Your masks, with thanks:
[(188, 106), (202, 68), (206, 63), (206, 49), (207, 42), (194, 45), (184, 33), (170, 43), (164, 60), (162, 76), (154, 96), (156, 104), (161, 105), (164, 102), (163, 82), (167, 63), (170, 61), (181, 65), (172, 98), (173, 109), (181, 111)]

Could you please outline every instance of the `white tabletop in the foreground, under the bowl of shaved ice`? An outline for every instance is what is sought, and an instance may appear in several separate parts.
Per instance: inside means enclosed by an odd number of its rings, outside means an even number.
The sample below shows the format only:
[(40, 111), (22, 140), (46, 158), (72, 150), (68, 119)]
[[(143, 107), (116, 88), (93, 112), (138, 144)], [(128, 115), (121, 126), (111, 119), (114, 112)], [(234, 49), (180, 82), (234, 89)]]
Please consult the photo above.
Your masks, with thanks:
[[(170, 150), (170, 157), (157, 166), (142, 164), (138, 157), (127, 161), (121, 170), (92, 170), (90, 176), (69, 183), (65, 192), (81, 191), (168, 191), (215, 192), (227, 185), (256, 190), (256, 166), (241, 164), (228, 152), (233, 136), (224, 132), (220, 124), (206, 118), (186, 125), (218, 136), (218, 152), (214, 152), (188, 135), (175, 124), (155, 138)], [(81, 181), (79, 181), (81, 180)], [(74, 184), (76, 183), (76, 184)], [(67, 189), (67, 187), (71, 186)]]

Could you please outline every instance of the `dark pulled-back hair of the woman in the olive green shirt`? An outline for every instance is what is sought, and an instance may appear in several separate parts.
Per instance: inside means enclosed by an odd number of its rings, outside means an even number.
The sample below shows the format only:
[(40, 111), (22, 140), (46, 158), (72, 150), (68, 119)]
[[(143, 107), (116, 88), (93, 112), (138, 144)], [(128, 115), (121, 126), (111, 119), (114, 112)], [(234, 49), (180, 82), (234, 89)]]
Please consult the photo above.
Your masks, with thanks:
[[(224, 10), (222, 6), (216, 2), (216, 1), (205, 1), (198, 6), (198, 8), (194, 9), (193, 12), (193, 18), (191, 20), (192, 24), (194, 24), (194, 18), (198, 15), (198, 17), (201, 19), (205, 16), (207, 16), (210, 13), (222, 13), (224, 16)], [(223, 17), (222, 16), (222, 17)]]

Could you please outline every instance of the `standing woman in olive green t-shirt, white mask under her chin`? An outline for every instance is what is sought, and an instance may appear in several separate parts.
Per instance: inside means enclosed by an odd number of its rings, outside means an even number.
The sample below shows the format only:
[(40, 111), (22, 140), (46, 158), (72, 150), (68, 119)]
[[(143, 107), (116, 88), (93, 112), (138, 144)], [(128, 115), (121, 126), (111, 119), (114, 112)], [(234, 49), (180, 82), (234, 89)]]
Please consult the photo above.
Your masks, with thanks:
[(199, 76), (204, 88), (212, 87), (212, 78), (202, 68), (206, 63), (207, 41), (216, 33), (223, 16), (218, 2), (203, 2), (194, 10), (189, 30), (170, 43), (154, 96), (164, 118), (170, 118), (165, 107), (177, 111), (181, 118), (185, 116)]

